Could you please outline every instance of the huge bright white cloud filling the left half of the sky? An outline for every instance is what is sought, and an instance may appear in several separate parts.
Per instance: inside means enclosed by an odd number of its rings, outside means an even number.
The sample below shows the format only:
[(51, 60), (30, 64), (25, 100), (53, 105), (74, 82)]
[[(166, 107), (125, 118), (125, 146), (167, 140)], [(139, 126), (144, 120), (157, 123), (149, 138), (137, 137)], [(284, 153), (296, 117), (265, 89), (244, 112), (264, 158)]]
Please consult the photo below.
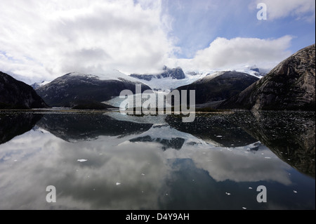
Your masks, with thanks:
[(166, 16), (160, 1), (1, 1), (1, 70), (54, 78), (156, 69), (173, 53)]

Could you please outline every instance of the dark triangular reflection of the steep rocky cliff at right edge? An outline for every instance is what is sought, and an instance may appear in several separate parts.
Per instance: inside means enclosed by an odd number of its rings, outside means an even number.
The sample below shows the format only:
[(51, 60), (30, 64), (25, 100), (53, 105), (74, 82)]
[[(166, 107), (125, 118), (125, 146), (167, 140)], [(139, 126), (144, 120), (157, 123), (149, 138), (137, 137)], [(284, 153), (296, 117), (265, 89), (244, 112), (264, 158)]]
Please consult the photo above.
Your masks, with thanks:
[(236, 112), (231, 119), (284, 162), (315, 177), (315, 112)]

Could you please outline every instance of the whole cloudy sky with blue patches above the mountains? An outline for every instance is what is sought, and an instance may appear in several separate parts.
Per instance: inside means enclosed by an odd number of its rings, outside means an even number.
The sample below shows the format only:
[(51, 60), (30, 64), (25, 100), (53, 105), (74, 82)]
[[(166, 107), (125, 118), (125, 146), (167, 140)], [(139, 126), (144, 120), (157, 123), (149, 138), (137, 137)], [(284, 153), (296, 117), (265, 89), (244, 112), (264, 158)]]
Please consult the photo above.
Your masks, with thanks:
[(164, 65), (271, 70), (311, 44), (313, 0), (1, 0), (0, 7), (0, 71), (28, 84)]

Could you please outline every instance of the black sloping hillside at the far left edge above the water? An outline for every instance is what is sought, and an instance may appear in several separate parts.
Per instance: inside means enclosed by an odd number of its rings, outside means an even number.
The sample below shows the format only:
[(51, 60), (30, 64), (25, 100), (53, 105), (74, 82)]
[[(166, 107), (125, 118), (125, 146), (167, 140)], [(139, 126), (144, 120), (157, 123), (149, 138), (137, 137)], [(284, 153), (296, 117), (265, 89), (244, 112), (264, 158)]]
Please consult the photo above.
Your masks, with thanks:
[(10, 75), (0, 72), (0, 109), (48, 107), (34, 89)]

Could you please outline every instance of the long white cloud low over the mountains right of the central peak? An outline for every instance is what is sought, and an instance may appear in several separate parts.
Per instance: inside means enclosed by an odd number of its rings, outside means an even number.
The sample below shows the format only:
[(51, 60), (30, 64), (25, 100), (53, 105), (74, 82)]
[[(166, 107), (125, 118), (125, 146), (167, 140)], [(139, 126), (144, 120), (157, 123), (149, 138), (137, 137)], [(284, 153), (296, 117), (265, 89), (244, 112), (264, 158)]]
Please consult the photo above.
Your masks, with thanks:
[(287, 51), (293, 37), (278, 39), (218, 37), (208, 48), (197, 51), (192, 59), (172, 61), (186, 69), (228, 69), (242, 65), (272, 68), (291, 55)]

